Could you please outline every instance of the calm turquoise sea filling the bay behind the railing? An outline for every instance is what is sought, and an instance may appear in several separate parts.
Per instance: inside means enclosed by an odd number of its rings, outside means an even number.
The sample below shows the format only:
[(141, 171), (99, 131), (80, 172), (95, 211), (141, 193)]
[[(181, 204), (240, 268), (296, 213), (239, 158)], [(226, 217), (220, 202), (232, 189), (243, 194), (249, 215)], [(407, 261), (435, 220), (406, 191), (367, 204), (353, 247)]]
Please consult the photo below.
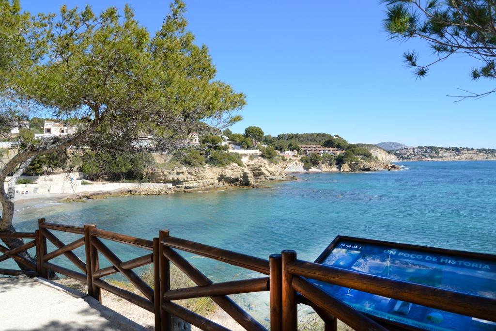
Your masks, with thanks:
[[(313, 261), (338, 234), (496, 254), (495, 161), (400, 164), (401, 171), (301, 174), (259, 189), (41, 203), (18, 207), (14, 223), (18, 231), (33, 231), (39, 217), (96, 223), (146, 239), (169, 229), (171, 236), (261, 258), (294, 249)], [(123, 261), (141, 252), (109, 244)], [(84, 257), (82, 248), (77, 253)], [(252, 276), (186, 257), (213, 281)]]

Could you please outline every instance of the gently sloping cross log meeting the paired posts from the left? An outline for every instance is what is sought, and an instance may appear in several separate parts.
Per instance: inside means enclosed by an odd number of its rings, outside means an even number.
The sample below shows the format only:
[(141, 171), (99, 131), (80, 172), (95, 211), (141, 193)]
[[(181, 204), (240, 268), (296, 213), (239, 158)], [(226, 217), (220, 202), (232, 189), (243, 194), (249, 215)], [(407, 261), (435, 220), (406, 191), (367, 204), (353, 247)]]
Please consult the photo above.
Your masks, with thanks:
[(219, 295), (231, 295), (240, 293), (263, 292), (269, 289), (269, 277), (227, 281), (213, 283), (206, 286), (195, 286), (169, 290), (164, 295), (164, 300), (174, 301)]

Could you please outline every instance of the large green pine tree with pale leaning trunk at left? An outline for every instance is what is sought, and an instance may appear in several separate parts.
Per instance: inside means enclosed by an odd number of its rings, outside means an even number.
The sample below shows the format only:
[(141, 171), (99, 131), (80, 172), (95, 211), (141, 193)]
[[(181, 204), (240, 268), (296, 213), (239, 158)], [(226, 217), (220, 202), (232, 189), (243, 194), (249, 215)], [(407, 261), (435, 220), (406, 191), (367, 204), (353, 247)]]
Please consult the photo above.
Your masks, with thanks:
[(81, 146), (113, 155), (174, 150), (193, 131), (240, 120), (245, 95), (215, 79), (207, 47), (187, 30), (185, 9), (175, 0), (151, 34), (127, 5), (101, 13), (64, 5), (58, 14), (33, 17), (18, 0), (0, 0), (0, 132), (33, 117), (73, 129), (43, 138), (19, 134), (19, 152), (0, 167), (0, 231), (14, 231), (15, 182), (37, 157)]

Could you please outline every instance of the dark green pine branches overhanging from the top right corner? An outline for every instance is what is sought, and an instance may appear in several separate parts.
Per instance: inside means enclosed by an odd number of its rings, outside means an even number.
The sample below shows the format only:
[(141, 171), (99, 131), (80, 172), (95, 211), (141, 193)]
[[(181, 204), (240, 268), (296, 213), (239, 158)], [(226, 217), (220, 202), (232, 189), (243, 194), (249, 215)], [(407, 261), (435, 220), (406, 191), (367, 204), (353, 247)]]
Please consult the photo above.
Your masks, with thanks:
[[(453, 54), (468, 55), (479, 63), (470, 70), (472, 79), (496, 78), (496, 2), (494, 0), (385, 0), (384, 28), (393, 38), (424, 40), (435, 58), (419, 63), (415, 51), (404, 53), (407, 66), (418, 77), (424, 77), (439, 61)], [(468, 92), (468, 91), (466, 91)], [(496, 92), (461, 95), (480, 97)]]

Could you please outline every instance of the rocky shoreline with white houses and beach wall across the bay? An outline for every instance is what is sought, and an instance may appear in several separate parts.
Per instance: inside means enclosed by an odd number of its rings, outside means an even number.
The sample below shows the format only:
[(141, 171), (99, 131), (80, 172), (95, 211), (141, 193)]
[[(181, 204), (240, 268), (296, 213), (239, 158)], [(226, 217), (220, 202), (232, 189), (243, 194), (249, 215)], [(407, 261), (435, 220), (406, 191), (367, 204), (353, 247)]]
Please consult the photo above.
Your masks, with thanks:
[[(37, 122), (40, 123), (40, 120)], [(275, 144), (277, 140), (264, 136), (260, 128), (254, 128), (259, 136), (249, 137), (249, 134), (235, 134), (229, 130), (205, 135), (192, 132), (186, 139), (179, 141), (179, 148), (186, 153), (186, 161), (175, 154), (155, 152), (152, 153), (153, 161), (146, 164), (143, 173), (138, 174), (139, 178), (129, 178), (125, 181), (109, 181), (110, 178), (106, 178), (105, 175), (91, 176), (85, 173), (84, 166), (77, 165), (77, 161), (74, 160), (78, 158), (74, 156), (71, 164), (75, 166), (70, 169), (54, 168), (49, 164), (45, 164), (42, 170), (36, 170), (36, 173), (29, 173), (28, 169), (17, 179), (16, 199), (29, 199), (49, 194), (71, 195), (71, 199), (112, 194), (169, 194), (231, 186), (255, 186), (266, 180), (286, 180), (291, 178), (288, 177), (289, 174), (298, 172), (399, 169), (394, 165), (388, 165), (387, 160), (382, 159), (387, 153), (379, 148), (372, 148), (371, 153), (367, 149), (351, 147), (351, 144), (348, 146), (348, 143), (339, 136), (323, 134), (331, 142), (337, 139), (344, 143), (338, 147), (298, 144), (294, 140), (278, 146)], [(247, 130), (249, 132), (249, 129)], [(17, 147), (22, 144), (26, 135), (32, 134), (34, 139), (50, 139), (76, 131), (76, 126), (54, 120), (44, 120), (43, 126), (39, 124), (36, 129), (30, 125), (30, 121), (19, 122), (6, 134), (4, 140), (7, 141), (1, 143), (2, 162), (7, 162), (16, 154)], [(142, 148), (153, 143), (152, 140), (142, 139), (135, 147)], [(327, 145), (330, 144), (329, 141)], [(278, 149), (274, 149), (273, 145)], [(71, 148), (69, 147), (68, 150)], [(355, 156), (354, 152), (357, 151), (366, 155)], [(83, 146), (76, 152), (72, 151), (72, 154), (84, 155), (89, 152), (91, 152), (90, 148)], [(191, 155), (197, 157), (199, 161), (191, 162)], [(209, 162), (212, 158), (223, 156), (227, 156), (228, 159), (217, 163)], [(7, 185), (8, 178), (5, 183), (5, 186)]]

